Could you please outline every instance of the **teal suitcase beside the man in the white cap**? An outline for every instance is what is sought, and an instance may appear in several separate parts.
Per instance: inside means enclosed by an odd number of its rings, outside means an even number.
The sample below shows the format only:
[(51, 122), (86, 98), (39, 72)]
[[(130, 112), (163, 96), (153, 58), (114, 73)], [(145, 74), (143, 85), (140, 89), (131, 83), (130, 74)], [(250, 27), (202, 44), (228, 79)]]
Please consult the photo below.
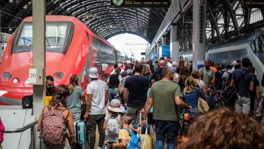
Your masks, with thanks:
[(83, 120), (77, 120), (73, 122), (74, 131), (76, 136), (76, 142), (78, 139), (83, 141), (82, 149), (87, 149), (89, 147), (89, 133), (87, 130), (87, 126)]

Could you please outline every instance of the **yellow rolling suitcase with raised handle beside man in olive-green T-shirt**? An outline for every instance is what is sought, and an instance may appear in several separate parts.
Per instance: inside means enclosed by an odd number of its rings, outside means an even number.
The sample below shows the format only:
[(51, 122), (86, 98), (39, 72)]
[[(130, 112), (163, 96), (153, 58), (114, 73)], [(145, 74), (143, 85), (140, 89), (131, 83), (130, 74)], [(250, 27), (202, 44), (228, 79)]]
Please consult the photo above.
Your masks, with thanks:
[[(140, 119), (141, 119), (141, 112), (140, 112)], [(146, 117), (146, 125), (147, 125), (147, 117)], [(139, 124), (139, 129), (140, 129), (140, 124)], [(144, 134), (138, 134), (137, 136), (140, 137), (140, 141), (141, 141), (141, 149), (152, 149), (153, 147), (153, 139), (152, 136), (147, 134), (147, 131), (145, 131)]]

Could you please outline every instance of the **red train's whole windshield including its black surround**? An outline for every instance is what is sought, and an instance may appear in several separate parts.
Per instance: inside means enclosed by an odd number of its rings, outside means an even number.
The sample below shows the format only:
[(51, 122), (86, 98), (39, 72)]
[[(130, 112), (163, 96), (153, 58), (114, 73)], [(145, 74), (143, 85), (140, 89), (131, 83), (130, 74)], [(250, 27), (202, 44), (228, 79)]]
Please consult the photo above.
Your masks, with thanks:
[[(14, 36), (12, 42), (12, 53), (32, 51), (33, 42), (33, 30), (32, 23), (23, 23), (21, 27), (18, 27), (17, 34)], [(47, 22), (46, 23), (46, 51), (57, 52), (65, 54), (68, 45), (67, 42), (71, 41), (74, 30), (74, 24), (72, 22)]]

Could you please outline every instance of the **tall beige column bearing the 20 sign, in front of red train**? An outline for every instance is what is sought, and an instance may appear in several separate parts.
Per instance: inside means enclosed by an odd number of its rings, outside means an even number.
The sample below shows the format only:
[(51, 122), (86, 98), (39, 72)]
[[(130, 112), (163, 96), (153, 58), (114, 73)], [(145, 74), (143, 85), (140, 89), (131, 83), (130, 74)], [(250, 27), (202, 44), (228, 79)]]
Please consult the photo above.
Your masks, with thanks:
[[(44, 107), (45, 96), (45, 59), (46, 59), (46, 42), (45, 42), (45, 14), (46, 0), (32, 1), (33, 13), (33, 69), (42, 69), (42, 76), (36, 76), (42, 80), (42, 84), (33, 84), (33, 115), (38, 119), (42, 108)], [(39, 56), (41, 55), (41, 56)], [(37, 73), (36, 73), (37, 74)], [(40, 78), (41, 77), (41, 78)], [(30, 81), (29, 81), (30, 83)], [(34, 126), (33, 146), (35, 149), (40, 148), (40, 140), (37, 138), (39, 132), (37, 125)], [(32, 143), (32, 142), (31, 142)]]

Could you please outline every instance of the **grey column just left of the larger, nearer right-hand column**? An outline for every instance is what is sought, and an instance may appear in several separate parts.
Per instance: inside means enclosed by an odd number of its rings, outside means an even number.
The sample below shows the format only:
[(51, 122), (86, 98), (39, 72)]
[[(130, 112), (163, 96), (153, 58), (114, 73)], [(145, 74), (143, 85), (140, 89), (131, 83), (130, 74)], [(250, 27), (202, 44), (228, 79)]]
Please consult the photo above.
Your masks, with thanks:
[(170, 27), (170, 61), (179, 63), (179, 43), (177, 42), (177, 26)]

